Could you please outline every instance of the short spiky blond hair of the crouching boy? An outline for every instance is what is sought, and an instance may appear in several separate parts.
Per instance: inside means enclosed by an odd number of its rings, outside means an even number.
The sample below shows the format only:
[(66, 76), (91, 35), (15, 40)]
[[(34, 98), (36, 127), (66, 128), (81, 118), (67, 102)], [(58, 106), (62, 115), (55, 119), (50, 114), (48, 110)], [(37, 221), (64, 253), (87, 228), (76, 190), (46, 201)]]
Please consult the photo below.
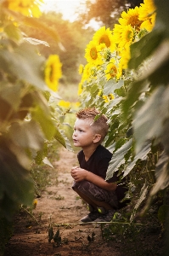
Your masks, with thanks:
[[(99, 118), (94, 120), (98, 115)], [(99, 110), (96, 108), (83, 108), (76, 113), (76, 117), (78, 119), (91, 120), (93, 130), (101, 135), (100, 142), (103, 142), (104, 137), (107, 135), (109, 130), (109, 125), (107, 123), (108, 119), (104, 114), (100, 114)]]

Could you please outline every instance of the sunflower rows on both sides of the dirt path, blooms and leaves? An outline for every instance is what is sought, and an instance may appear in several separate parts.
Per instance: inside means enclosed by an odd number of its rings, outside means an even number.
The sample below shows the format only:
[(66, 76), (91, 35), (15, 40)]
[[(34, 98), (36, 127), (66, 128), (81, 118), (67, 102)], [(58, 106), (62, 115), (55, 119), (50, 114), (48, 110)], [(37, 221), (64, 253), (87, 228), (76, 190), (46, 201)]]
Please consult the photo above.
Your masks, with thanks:
[[(57, 33), (38, 22), (42, 0), (0, 0), (0, 244), (20, 205), (31, 206), (32, 161), (42, 162), (48, 144), (71, 149), (62, 129), (70, 103), (57, 94), (59, 55), (45, 59), (20, 25), (42, 29), (59, 43)], [(144, 0), (121, 13), (113, 28), (102, 26), (87, 44), (87, 64), (79, 67), (80, 108), (99, 108), (110, 122), (104, 146), (113, 153), (106, 179), (127, 178), (134, 197), (130, 221), (145, 212), (159, 192), (165, 219), (169, 184), (169, 5)], [(58, 103), (59, 102), (59, 103)], [(60, 105), (59, 105), (60, 104)], [(66, 104), (66, 111), (60, 106)], [(143, 202), (144, 207), (143, 207)], [(163, 211), (165, 209), (165, 211)]]

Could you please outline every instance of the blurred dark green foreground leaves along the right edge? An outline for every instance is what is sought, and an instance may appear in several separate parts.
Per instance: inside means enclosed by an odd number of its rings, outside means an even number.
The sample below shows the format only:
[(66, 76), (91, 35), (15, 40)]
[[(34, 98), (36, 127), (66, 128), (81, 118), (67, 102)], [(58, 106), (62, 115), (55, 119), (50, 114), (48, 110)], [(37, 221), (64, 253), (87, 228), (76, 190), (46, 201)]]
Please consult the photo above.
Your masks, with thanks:
[[(155, 28), (152, 32), (142, 38), (138, 43), (132, 45), (132, 59), (129, 67), (140, 68), (144, 61), (149, 61), (149, 68), (144, 75), (136, 82), (132, 83), (128, 96), (123, 104), (123, 109), (127, 114), (133, 112), (133, 134), (136, 141), (136, 154), (143, 147), (146, 141), (151, 141), (153, 145), (160, 144), (161, 154), (159, 161), (155, 164), (155, 174), (157, 177), (154, 188), (150, 195), (155, 195), (159, 190), (168, 186), (168, 4), (167, 1), (155, 1), (157, 6), (157, 17)], [(149, 42), (149, 44), (146, 44)], [(145, 44), (147, 49), (145, 50)], [(136, 49), (137, 48), (137, 49)], [(137, 54), (137, 52), (139, 54)], [(138, 61), (139, 58), (139, 61)], [(132, 65), (136, 63), (136, 65)], [(139, 88), (138, 88), (139, 87)], [(133, 98), (133, 93), (135, 97)], [(144, 102), (139, 108), (134, 108), (140, 97), (144, 95)], [(158, 150), (159, 148), (157, 148)], [(161, 152), (160, 150), (160, 152)]]

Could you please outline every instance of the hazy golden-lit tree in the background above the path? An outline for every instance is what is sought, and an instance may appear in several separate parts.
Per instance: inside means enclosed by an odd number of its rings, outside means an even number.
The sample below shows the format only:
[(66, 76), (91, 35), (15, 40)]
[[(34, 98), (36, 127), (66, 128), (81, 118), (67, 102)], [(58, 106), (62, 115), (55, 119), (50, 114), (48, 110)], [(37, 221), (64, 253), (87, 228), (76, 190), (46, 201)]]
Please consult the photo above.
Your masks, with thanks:
[(62, 16), (55, 12), (44, 13), (39, 20), (42, 24), (57, 32), (59, 42), (57, 43), (56, 40), (51, 37), (51, 34), (48, 34), (45, 30), (39, 30), (39, 27), (32, 28), (32, 26), (23, 26), (26, 35), (29, 38), (37, 38), (41, 40), (41, 42), (45, 38), (49, 47), (46, 47), (44, 44), (39, 45), (42, 55), (48, 57), (48, 55), (57, 53), (60, 61), (63, 63), (62, 82), (64, 84), (77, 84), (80, 80), (78, 67), (84, 62), (83, 50), (87, 41), (91, 38), (93, 31), (82, 28), (80, 22), (63, 20)]

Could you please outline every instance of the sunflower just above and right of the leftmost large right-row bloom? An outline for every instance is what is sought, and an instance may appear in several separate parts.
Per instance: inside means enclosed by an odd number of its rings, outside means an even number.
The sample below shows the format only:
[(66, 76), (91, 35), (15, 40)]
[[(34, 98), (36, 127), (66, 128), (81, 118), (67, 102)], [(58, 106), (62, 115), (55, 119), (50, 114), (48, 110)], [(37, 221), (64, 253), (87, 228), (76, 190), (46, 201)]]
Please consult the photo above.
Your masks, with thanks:
[(111, 51), (115, 50), (115, 42), (110, 28), (105, 29), (105, 26), (100, 27), (93, 35), (93, 41), (96, 41), (97, 44), (105, 44)]

